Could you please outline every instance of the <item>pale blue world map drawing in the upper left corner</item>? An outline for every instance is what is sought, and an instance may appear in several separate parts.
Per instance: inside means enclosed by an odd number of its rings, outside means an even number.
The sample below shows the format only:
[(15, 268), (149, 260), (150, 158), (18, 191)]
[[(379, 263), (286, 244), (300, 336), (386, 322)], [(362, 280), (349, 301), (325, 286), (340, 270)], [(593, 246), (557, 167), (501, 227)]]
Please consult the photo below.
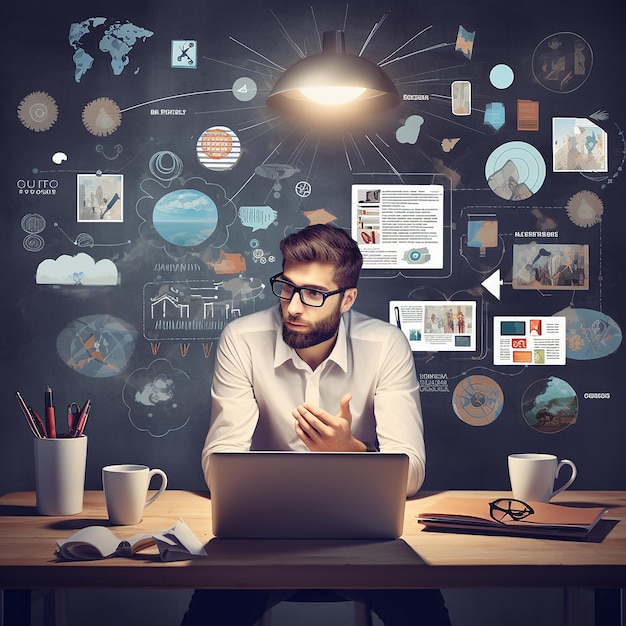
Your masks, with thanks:
[[(115, 21), (111, 23), (106, 17), (90, 17), (82, 22), (71, 24), (69, 43), (74, 48), (73, 60), (76, 68), (74, 73), (76, 82), (81, 81), (96, 60), (91, 54), (93, 52), (91, 37), (96, 37), (100, 52), (110, 55), (113, 73), (119, 76), (130, 63), (129, 54), (135, 44), (138, 41), (145, 42), (152, 35), (154, 35), (152, 31), (141, 26), (135, 26), (130, 22)], [(89, 48), (90, 52), (86, 48)]]

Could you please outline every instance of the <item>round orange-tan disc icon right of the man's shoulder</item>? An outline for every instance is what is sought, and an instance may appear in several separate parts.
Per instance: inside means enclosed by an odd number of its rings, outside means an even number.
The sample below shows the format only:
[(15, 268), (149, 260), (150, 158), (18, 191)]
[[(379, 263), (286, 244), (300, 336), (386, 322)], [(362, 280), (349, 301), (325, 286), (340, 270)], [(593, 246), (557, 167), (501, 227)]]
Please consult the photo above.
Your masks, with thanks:
[(486, 426), (498, 418), (504, 394), (497, 382), (487, 376), (468, 376), (454, 389), (452, 408), (470, 426)]

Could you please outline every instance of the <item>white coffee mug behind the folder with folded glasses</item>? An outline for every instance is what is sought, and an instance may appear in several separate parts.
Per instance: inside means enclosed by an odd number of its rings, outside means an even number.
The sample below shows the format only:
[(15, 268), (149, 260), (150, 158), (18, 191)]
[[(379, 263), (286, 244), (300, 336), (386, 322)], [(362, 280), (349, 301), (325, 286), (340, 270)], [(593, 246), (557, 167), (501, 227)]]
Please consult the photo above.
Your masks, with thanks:
[[(572, 468), (569, 480), (554, 489), (554, 481), (564, 465)], [(567, 489), (576, 478), (576, 465), (569, 459), (559, 461), (554, 454), (510, 454), (509, 478), (513, 497), (525, 502), (549, 502), (557, 493)]]

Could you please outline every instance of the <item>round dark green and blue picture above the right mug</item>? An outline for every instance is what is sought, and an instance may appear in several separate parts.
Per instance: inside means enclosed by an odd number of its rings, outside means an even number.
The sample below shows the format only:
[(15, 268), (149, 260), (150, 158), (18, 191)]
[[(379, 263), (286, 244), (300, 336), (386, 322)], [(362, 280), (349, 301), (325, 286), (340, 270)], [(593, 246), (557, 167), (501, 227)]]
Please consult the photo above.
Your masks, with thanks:
[(522, 415), (531, 428), (541, 433), (558, 433), (576, 422), (578, 396), (561, 378), (542, 378), (524, 392)]

